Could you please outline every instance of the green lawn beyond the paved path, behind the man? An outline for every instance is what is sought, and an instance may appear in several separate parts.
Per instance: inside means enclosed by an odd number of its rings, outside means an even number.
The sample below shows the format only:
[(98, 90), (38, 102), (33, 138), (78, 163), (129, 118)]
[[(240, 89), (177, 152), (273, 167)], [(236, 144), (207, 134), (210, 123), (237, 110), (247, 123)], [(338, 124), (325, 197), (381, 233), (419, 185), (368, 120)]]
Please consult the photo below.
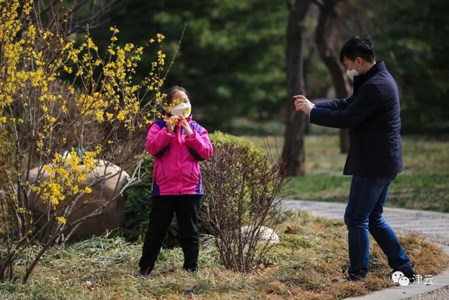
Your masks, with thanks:
[[(281, 152), (282, 137), (246, 136), (273, 155)], [(277, 150), (276, 150), (277, 148)], [(346, 155), (340, 153), (335, 134), (306, 136), (304, 177), (291, 178), (293, 199), (346, 202), (351, 176), (342, 176)], [(449, 140), (429, 136), (403, 136), (404, 171), (391, 184), (389, 207), (449, 212)]]

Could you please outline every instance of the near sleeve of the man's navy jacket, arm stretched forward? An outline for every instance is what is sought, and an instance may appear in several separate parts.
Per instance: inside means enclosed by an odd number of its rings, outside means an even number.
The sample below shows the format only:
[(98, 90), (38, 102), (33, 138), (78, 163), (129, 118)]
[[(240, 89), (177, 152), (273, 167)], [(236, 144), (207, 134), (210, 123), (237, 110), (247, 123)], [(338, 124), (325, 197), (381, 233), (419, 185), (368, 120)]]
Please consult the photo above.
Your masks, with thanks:
[(315, 107), (311, 110), (310, 122), (334, 128), (351, 128), (373, 115), (381, 102), (382, 98), (377, 88), (373, 85), (366, 86), (342, 110)]

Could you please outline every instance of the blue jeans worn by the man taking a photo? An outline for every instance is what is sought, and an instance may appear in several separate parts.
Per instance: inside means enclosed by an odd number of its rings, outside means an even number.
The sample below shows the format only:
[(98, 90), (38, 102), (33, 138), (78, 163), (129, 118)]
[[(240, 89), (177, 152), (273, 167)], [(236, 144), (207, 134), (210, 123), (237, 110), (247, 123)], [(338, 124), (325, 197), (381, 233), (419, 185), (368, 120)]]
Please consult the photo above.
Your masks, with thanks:
[(394, 178), (396, 176), (352, 177), (349, 200), (344, 212), (351, 263), (349, 274), (366, 277), (370, 255), (370, 233), (387, 256), (392, 269), (405, 270), (413, 266), (393, 230), (382, 217), (382, 208), (387, 202), (389, 186)]

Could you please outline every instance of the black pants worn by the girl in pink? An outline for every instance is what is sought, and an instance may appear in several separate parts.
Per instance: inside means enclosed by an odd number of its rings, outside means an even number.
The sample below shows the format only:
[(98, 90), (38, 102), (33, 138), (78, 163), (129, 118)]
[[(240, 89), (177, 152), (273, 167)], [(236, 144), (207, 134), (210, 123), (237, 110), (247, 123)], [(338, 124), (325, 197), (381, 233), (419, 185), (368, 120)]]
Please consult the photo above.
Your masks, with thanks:
[(151, 272), (161, 251), (167, 230), (176, 214), (180, 229), (180, 242), (184, 252), (184, 268), (195, 271), (198, 268), (199, 233), (198, 213), (201, 195), (152, 197), (149, 212), (149, 226), (143, 243), (140, 270)]

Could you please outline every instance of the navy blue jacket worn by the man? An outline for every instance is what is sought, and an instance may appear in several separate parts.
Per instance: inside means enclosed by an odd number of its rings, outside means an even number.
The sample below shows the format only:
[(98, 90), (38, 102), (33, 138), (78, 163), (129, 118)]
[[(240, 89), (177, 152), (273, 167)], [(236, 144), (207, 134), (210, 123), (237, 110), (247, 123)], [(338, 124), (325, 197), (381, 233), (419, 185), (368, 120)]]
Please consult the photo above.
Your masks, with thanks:
[(354, 77), (349, 98), (316, 103), (310, 122), (349, 128), (351, 143), (343, 174), (394, 176), (403, 170), (398, 86), (384, 62)]

